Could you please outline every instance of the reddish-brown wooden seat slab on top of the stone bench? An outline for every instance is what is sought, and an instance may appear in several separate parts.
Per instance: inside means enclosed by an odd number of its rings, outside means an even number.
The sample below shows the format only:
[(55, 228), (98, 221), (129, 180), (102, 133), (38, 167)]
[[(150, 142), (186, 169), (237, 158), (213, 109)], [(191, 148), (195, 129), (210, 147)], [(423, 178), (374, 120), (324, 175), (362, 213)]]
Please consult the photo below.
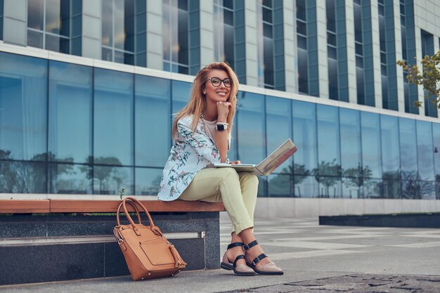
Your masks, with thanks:
[[(120, 200), (0, 200), (0, 214), (115, 213)], [(222, 202), (141, 200), (151, 212), (225, 211)], [(130, 211), (133, 209), (130, 207)]]

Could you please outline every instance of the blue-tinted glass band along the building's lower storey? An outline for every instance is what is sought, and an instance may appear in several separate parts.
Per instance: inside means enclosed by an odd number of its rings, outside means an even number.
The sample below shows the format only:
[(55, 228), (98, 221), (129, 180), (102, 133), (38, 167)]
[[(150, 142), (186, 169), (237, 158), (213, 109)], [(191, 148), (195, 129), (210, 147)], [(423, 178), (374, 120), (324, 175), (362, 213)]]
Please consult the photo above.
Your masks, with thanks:
[[(189, 90), (0, 53), (0, 192), (155, 195)], [(259, 196), (440, 198), (439, 123), (240, 91), (229, 156), (259, 162), (286, 138), (299, 152)]]

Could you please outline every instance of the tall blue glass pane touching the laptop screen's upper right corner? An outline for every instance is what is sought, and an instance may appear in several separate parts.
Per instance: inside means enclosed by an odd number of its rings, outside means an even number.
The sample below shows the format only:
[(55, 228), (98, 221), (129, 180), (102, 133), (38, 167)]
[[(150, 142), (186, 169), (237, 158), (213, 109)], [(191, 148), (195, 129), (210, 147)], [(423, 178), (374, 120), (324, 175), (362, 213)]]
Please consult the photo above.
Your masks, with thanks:
[(298, 152), (293, 159), (295, 175), (308, 175), (318, 166), (316, 143), (316, 105), (292, 101), (293, 141)]

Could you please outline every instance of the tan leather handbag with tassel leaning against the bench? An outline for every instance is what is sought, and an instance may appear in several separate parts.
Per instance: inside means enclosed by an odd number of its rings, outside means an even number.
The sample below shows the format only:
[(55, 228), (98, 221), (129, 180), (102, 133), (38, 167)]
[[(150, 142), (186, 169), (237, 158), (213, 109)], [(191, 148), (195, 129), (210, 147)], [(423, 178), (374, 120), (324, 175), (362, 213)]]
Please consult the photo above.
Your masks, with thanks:
[[(127, 204), (134, 208), (138, 223), (134, 223), (127, 210)], [(121, 207), (129, 220), (129, 225), (121, 225), (119, 213)], [(150, 226), (141, 223), (139, 208), (145, 211)], [(147, 209), (133, 197), (126, 197), (119, 204), (116, 216), (117, 226), (113, 230), (119, 247), (124, 254), (134, 281), (161, 278), (176, 275), (186, 266), (176, 247), (167, 240), (160, 229), (155, 226)]]

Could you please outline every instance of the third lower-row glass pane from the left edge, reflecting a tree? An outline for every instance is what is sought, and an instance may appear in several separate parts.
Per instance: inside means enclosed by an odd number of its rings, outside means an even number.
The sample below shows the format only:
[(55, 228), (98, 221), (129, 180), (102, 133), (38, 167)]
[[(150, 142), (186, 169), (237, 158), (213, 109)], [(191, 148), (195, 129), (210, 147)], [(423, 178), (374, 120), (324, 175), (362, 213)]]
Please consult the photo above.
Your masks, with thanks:
[(124, 188), (126, 195), (133, 194), (133, 168), (114, 166), (93, 167), (93, 194), (119, 195)]

